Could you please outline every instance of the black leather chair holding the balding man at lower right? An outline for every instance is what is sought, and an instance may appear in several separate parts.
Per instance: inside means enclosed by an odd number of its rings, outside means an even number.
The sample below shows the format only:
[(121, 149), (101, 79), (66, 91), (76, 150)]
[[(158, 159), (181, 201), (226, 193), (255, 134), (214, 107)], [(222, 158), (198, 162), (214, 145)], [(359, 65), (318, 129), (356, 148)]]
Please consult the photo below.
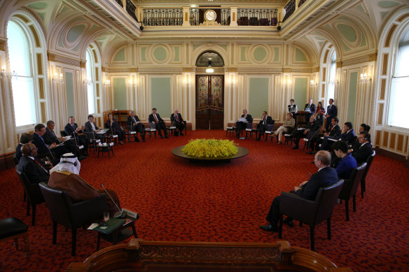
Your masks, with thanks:
[(328, 240), (331, 240), (331, 216), (343, 184), (344, 180), (339, 180), (333, 185), (320, 188), (314, 201), (303, 199), (297, 194), (282, 192), (279, 203), (278, 237), (282, 238), (283, 215), (288, 215), (310, 226), (311, 250), (315, 250), (314, 228), (324, 220), (326, 220)]

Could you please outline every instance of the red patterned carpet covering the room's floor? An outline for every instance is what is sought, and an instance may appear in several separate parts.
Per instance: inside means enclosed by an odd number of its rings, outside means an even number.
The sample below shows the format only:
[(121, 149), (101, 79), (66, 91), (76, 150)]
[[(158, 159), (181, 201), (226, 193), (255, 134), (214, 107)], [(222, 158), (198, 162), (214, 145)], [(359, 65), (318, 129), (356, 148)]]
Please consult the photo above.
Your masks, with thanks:
[[(197, 164), (175, 157), (172, 148), (190, 138), (226, 138), (226, 131), (188, 131), (187, 136), (149, 139), (116, 147), (115, 157), (91, 153), (81, 162), (81, 176), (95, 187), (115, 190), (121, 206), (140, 213), (140, 238), (153, 241), (274, 242), (265, 224), (272, 199), (317, 171), (312, 155), (269, 141), (238, 140), (246, 157), (231, 163)], [(233, 136), (228, 137), (231, 140)], [(365, 198), (356, 201), (345, 221), (345, 205), (335, 206), (333, 239), (325, 222), (317, 226), (316, 250), (338, 266), (354, 271), (405, 271), (409, 267), (407, 193), (409, 170), (401, 162), (376, 155), (367, 177)], [(59, 226), (52, 244), (52, 223), (45, 204), (37, 206), (36, 226), (25, 215), (22, 185), (14, 169), (1, 172), (0, 218), (15, 216), (29, 225), (30, 259), (2, 243), (0, 271), (63, 271), (95, 252), (97, 234), (78, 229), (77, 255), (71, 257), (71, 234)], [(352, 206), (352, 204), (351, 204)], [(352, 207), (350, 208), (352, 210)], [(283, 239), (310, 248), (310, 230), (283, 227)], [(102, 242), (102, 248), (111, 244)]]

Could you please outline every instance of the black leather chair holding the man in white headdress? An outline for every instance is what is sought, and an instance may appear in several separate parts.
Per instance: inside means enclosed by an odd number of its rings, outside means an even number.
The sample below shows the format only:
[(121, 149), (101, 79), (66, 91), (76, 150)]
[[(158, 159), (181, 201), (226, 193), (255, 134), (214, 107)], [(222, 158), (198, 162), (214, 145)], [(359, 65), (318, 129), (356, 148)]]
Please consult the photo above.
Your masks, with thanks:
[(53, 220), (53, 245), (57, 243), (57, 224), (62, 224), (67, 229), (71, 229), (71, 255), (75, 256), (76, 229), (102, 219), (103, 213), (108, 210), (105, 194), (73, 203), (67, 192), (50, 188), (45, 182), (40, 183), (40, 189)]

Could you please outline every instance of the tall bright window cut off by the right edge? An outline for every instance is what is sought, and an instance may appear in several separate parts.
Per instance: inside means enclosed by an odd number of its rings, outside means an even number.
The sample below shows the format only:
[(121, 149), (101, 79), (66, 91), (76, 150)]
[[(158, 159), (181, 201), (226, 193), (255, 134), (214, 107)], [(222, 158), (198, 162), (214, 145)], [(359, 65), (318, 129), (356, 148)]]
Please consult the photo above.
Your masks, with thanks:
[(405, 101), (409, 100), (409, 29), (403, 31), (399, 39), (398, 52), (391, 78), (391, 94), (389, 96), (388, 121), (389, 126), (409, 129), (409, 119)]

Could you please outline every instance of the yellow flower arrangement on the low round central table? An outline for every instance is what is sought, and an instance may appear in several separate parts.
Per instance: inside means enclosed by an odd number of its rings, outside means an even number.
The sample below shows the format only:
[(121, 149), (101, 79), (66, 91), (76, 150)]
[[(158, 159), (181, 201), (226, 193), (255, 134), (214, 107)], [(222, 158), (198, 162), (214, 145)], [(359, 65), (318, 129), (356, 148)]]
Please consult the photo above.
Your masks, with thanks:
[(223, 157), (236, 155), (239, 151), (236, 145), (229, 140), (191, 139), (181, 151), (194, 157)]

